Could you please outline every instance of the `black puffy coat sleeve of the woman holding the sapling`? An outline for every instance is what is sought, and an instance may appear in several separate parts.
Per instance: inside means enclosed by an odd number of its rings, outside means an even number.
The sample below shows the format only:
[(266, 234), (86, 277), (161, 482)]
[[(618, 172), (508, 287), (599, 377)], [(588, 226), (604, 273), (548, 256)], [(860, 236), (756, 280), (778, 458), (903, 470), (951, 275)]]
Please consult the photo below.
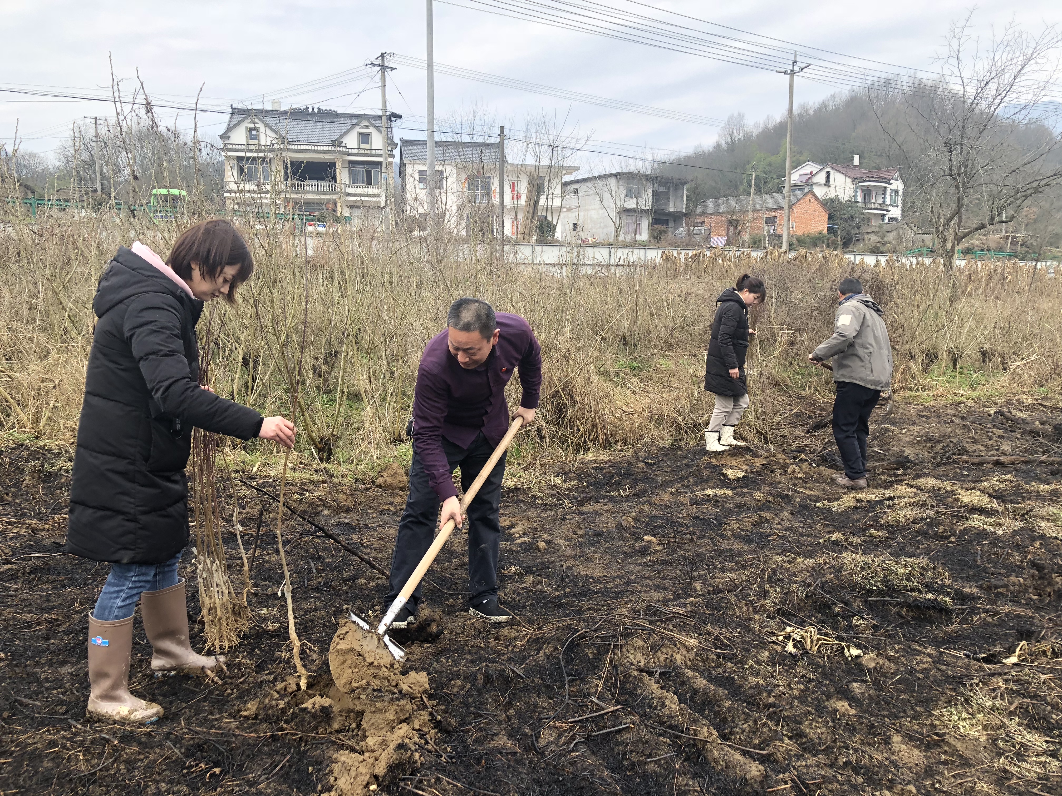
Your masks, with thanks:
[(206, 431), (239, 439), (258, 436), (260, 414), (203, 390), (192, 379), (181, 336), (182, 316), (178, 299), (164, 293), (134, 298), (125, 313), (125, 339), (155, 402), (166, 415)]

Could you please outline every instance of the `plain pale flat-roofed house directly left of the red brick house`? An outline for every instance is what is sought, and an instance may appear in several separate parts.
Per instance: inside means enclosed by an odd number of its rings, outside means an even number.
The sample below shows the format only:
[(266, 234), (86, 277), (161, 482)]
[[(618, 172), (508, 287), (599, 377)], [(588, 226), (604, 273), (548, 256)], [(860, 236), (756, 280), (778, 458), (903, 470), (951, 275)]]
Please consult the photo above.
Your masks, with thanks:
[(564, 183), (558, 238), (571, 242), (644, 241), (650, 228), (673, 235), (686, 215), (688, 179), (617, 171)]

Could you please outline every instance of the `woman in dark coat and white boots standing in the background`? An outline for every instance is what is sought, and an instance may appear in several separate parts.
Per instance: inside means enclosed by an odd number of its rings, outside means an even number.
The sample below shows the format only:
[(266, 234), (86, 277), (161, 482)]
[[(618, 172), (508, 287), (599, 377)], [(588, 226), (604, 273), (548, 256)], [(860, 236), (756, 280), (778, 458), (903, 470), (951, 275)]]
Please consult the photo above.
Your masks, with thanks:
[(767, 297), (764, 280), (743, 274), (737, 285), (727, 288), (717, 301), (716, 319), (704, 367), (704, 388), (716, 394), (716, 408), (704, 430), (709, 451), (748, 445), (734, 438), (734, 428), (749, 408), (744, 380), (744, 357), (749, 351), (749, 308)]

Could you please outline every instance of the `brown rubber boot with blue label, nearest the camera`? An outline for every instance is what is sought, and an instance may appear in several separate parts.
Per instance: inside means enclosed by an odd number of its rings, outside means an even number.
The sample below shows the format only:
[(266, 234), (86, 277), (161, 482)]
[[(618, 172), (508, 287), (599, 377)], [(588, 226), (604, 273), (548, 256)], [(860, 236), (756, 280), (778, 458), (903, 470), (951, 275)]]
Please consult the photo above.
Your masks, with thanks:
[(162, 715), (153, 702), (130, 693), (130, 657), (133, 654), (133, 617), (100, 622), (88, 615), (88, 681), (90, 719), (124, 724), (150, 724)]

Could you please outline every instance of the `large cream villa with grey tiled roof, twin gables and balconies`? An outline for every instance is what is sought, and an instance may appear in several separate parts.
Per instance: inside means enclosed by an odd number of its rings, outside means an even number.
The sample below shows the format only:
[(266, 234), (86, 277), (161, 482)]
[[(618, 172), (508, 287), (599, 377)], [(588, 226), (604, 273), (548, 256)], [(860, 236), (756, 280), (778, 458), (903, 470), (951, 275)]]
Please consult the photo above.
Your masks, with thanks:
[[(220, 136), (225, 205), (242, 212), (330, 211), (379, 219), (383, 134), (380, 117), (324, 108), (232, 107)], [(388, 137), (388, 152), (394, 141)]]

